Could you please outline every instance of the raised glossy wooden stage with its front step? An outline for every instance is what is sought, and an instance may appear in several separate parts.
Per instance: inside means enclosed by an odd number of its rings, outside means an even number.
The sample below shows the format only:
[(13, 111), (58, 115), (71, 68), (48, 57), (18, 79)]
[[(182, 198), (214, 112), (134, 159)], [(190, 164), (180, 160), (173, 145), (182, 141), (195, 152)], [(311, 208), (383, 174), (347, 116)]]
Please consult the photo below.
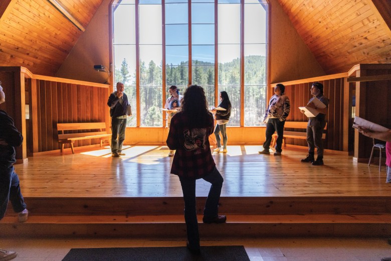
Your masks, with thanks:
[[(185, 235), (180, 183), (160, 146), (108, 147), (48, 154), (16, 165), (30, 218), (16, 222), (9, 208), (1, 236)], [(220, 212), (228, 223), (200, 223), (203, 237), (390, 236), (391, 184), (385, 166), (356, 163), (346, 153), (325, 153), (324, 166), (301, 163), (306, 149), (259, 155), (260, 146), (229, 146), (214, 154), (223, 184)], [(197, 182), (202, 214), (209, 183)], [(201, 216), (199, 218), (201, 220)]]

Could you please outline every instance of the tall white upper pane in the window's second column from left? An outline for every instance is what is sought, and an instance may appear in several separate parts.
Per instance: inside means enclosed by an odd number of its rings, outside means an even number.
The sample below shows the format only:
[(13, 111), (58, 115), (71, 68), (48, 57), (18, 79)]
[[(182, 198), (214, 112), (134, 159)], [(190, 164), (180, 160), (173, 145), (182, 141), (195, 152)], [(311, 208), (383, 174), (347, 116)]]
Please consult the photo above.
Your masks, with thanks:
[(139, 6), (140, 44), (161, 44), (161, 5)]

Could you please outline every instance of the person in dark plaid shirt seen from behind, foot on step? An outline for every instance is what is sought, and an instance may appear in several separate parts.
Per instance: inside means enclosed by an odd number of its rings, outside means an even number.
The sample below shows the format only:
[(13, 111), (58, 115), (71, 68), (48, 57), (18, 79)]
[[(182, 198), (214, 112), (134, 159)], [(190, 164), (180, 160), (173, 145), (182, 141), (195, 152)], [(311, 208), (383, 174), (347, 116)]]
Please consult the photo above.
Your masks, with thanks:
[(195, 180), (204, 179), (212, 184), (204, 208), (204, 223), (224, 223), (219, 215), (219, 200), (223, 177), (212, 157), (209, 136), (213, 133), (214, 119), (208, 110), (203, 87), (191, 85), (184, 92), (181, 111), (170, 124), (167, 146), (176, 150), (171, 173), (179, 177), (184, 200), (184, 220), (187, 229), (187, 248), (200, 253), (197, 209), (195, 205)]

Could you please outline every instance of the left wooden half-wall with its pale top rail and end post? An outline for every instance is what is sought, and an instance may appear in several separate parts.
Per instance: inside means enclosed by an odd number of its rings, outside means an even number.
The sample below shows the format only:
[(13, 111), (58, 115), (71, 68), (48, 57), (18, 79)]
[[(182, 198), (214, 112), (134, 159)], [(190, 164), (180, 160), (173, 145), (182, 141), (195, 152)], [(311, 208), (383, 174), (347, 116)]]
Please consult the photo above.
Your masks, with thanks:
[[(24, 67), (0, 67), (0, 80), (7, 97), (4, 109), (25, 137), (18, 159), (26, 159), (28, 152), (59, 150), (57, 123), (106, 122), (110, 127), (110, 85), (35, 75)], [(78, 143), (75, 146), (99, 141)]]

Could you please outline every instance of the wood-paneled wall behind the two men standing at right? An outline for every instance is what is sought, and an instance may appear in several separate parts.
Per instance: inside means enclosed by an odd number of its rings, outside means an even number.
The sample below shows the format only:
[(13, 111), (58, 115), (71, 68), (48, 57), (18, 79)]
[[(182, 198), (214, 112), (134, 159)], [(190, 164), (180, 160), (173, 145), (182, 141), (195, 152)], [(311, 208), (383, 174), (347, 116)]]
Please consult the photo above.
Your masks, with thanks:
[[(328, 113), (326, 115), (327, 129), (326, 140), (324, 141), (324, 148), (335, 151), (347, 151), (347, 144), (344, 144), (344, 139), (347, 139), (349, 129), (348, 118), (351, 113), (349, 106), (344, 106), (349, 103), (349, 94), (345, 92), (345, 88), (349, 89), (345, 81), (347, 73), (328, 75), (322, 77), (315, 77), (303, 79), (298, 81), (282, 82), (285, 85), (285, 93), (288, 95), (291, 102), (291, 111), (287, 120), (289, 121), (308, 121), (308, 118), (300, 112), (299, 106), (305, 106), (311, 95), (311, 85), (313, 82), (321, 82), (324, 86), (323, 93), (329, 98)], [(272, 87), (276, 83), (271, 84), (268, 97), (274, 94)], [(291, 129), (287, 129), (288, 131)], [(295, 130), (300, 131), (300, 130)], [(302, 130), (301, 130), (302, 131)], [(299, 146), (307, 146), (305, 140), (288, 139), (288, 144)]]

